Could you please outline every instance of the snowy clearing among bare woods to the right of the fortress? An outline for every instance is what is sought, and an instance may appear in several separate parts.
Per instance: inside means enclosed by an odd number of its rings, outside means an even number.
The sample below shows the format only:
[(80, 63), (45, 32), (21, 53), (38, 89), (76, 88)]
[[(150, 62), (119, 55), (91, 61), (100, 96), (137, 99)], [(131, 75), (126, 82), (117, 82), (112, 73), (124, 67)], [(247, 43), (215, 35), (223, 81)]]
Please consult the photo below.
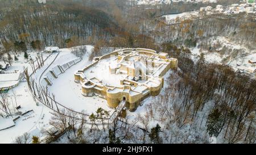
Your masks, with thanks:
[(200, 49), (198, 44), (195, 48), (191, 48), (192, 60), (196, 61), (202, 52), (205, 55), (205, 61), (229, 65), (234, 71), (240, 69), (250, 73), (256, 69), (256, 64), (249, 63), (249, 60), (251, 62), (256, 61), (256, 50), (250, 50), (221, 36), (210, 38), (209, 44), (212, 47), (217, 47), (214, 52)]

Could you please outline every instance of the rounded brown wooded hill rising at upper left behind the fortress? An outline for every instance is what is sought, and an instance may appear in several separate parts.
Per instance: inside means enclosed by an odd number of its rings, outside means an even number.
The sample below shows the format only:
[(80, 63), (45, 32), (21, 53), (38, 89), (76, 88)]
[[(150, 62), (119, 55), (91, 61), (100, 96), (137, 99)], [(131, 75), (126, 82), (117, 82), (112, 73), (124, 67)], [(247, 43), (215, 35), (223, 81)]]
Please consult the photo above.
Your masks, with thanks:
[(104, 11), (79, 2), (47, 1), (47, 5), (40, 5), (37, 1), (1, 3), (0, 37), (13, 42), (40, 40), (45, 45), (64, 47), (74, 36), (80, 40), (88, 37), (108, 39), (113, 35), (109, 27), (117, 27), (113, 18)]

